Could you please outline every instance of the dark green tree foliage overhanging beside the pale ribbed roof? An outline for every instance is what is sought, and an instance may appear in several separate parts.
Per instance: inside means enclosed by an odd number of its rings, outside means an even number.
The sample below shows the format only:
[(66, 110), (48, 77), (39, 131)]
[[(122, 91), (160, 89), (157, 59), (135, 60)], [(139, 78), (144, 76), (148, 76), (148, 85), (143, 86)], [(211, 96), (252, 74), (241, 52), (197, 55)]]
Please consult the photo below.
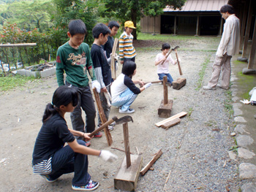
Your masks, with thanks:
[[(181, 8), (186, 0), (102, 0), (105, 4), (105, 10), (101, 12), (102, 17), (115, 17), (121, 23), (126, 20), (132, 20), (137, 26), (138, 21), (143, 14), (151, 17), (156, 17), (162, 14), (162, 9), (167, 5), (176, 8)], [(133, 34), (135, 39), (137, 35)]]

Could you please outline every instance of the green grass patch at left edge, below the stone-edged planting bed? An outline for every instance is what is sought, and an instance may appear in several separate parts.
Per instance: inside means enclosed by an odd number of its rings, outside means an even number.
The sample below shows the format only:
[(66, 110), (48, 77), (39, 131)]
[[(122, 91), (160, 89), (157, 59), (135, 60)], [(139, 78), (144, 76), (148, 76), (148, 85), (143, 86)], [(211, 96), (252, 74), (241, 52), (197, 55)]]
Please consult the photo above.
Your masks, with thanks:
[(0, 91), (9, 91), (12, 88), (21, 87), (29, 81), (36, 80), (35, 77), (24, 77), (19, 74), (0, 77)]

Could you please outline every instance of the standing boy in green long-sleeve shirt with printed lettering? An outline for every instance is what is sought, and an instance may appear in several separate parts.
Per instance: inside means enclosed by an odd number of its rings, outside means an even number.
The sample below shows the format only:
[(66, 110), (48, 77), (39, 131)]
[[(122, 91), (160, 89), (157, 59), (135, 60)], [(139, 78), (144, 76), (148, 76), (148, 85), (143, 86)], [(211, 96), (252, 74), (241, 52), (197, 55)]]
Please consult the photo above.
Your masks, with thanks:
[[(95, 129), (94, 119), (96, 110), (94, 99), (91, 95), (87, 71), (92, 80), (92, 88), (95, 87), (97, 91), (100, 92), (100, 85), (94, 74), (89, 45), (83, 42), (85, 34), (86, 25), (82, 20), (70, 21), (69, 31), (67, 32), (69, 41), (61, 45), (57, 51), (56, 76), (59, 86), (66, 84), (78, 88), (78, 106), (75, 107), (75, 110), (70, 114), (73, 129), (91, 133)], [(67, 74), (65, 82), (64, 72)], [(86, 126), (82, 118), (80, 107), (86, 112)], [(99, 133), (94, 137), (101, 136), (102, 134)], [(88, 142), (86, 145), (89, 146), (90, 143)]]

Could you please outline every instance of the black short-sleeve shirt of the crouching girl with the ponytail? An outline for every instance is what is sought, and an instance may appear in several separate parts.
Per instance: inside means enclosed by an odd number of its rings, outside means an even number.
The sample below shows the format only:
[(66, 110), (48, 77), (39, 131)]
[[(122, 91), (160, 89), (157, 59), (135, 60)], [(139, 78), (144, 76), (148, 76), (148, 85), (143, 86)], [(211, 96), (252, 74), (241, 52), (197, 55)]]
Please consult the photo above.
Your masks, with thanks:
[(56, 151), (64, 147), (65, 142), (73, 142), (75, 137), (67, 128), (67, 122), (59, 113), (42, 124), (34, 144), (32, 164), (48, 160)]

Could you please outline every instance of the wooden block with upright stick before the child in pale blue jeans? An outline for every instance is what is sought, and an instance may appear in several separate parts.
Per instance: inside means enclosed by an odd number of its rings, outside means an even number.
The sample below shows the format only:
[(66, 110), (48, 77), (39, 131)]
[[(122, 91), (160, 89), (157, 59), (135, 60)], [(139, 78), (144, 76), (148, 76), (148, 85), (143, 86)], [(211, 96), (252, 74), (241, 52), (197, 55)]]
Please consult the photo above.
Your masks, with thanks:
[(163, 77), (164, 99), (158, 108), (160, 118), (170, 118), (170, 112), (173, 107), (173, 100), (168, 99), (167, 77)]

